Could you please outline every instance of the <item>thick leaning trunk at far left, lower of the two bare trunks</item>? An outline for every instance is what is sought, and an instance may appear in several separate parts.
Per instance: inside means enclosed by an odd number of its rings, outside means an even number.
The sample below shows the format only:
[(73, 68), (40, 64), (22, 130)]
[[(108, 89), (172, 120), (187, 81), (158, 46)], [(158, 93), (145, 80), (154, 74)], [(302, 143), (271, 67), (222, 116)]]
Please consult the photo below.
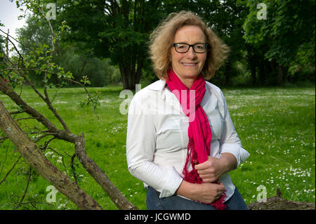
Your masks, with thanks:
[(69, 198), (80, 209), (102, 209), (93, 198), (84, 192), (68, 176), (57, 169), (46, 159), (39, 147), (20, 129), (0, 100), (0, 129), (13, 142), (22, 157), (58, 191)]

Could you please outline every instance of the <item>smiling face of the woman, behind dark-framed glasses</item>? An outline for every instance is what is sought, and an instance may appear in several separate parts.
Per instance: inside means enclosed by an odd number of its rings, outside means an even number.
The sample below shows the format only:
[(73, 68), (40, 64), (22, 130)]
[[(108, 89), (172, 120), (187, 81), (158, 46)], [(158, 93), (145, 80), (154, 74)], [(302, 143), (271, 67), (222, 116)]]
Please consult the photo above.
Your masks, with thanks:
[[(173, 43), (201, 44), (206, 43), (206, 37), (201, 28), (194, 25), (180, 27), (175, 36)], [(205, 53), (195, 53), (190, 47), (186, 53), (178, 53), (174, 47), (171, 48), (171, 64), (173, 71), (181, 81), (184, 79), (196, 79), (202, 72)]]

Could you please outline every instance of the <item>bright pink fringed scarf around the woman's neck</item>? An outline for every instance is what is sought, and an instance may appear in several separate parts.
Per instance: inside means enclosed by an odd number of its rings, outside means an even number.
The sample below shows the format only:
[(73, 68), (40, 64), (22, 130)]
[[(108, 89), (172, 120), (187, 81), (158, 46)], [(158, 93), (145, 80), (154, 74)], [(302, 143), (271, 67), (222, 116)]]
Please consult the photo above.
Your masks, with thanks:
[[(206, 91), (204, 77), (202, 74), (199, 74), (189, 90), (187, 86), (180, 81), (173, 70), (171, 70), (169, 72), (169, 80), (166, 81), (166, 84), (178, 98), (183, 107), (183, 112), (189, 117), (189, 128), (187, 129), (189, 143), (187, 145), (187, 159), (185, 161), (185, 167), (183, 168), (183, 179), (189, 183), (203, 183), (202, 178), (199, 177), (195, 169), (195, 164), (202, 164), (207, 161), (211, 153), (212, 138), (209, 119), (207, 119), (200, 105)], [(188, 167), (190, 167), (190, 165), (192, 166), (192, 171), (189, 172)], [(216, 183), (218, 182), (216, 181)], [(223, 204), (225, 197), (224, 192), (223, 195), (221, 195), (216, 202), (211, 203), (211, 205), (219, 210), (225, 209), (226, 206)]]

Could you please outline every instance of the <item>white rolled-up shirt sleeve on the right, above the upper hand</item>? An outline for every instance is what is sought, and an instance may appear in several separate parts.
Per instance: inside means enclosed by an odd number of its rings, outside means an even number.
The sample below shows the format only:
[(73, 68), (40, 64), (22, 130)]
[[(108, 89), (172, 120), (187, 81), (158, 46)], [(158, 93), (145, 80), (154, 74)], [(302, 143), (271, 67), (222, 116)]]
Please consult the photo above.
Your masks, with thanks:
[(232, 119), (230, 117), (230, 113), (228, 112), (225, 97), (221, 91), (220, 93), (225, 112), (223, 133), (220, 136), (220, 153), (229, 152), (233, 154), (237, 159), (237, 168), (241, 162), (244, 162), (249, 157), (250, 154), (242, 147), (242, 143), (237, 135), (235, 126), (232, 124)]

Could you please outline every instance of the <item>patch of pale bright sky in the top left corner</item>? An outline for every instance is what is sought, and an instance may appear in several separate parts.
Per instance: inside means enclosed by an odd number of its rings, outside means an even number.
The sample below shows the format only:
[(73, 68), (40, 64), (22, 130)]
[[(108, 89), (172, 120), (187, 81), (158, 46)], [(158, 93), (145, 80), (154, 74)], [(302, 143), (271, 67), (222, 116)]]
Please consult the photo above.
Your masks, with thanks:
[[(14, 38), (16, 38), (15, 29), (25, 24), (25, 18), (18, 20), (19, 15), (24, 15), (24, 12), (16, 8), (15, 1), (0, 0), (0, 22), (5, 25), (0, 29), (4, 32), (8, 32), (9, 29), (9, 34)], [(4, 33), (0, 32), (0, 34)]]

